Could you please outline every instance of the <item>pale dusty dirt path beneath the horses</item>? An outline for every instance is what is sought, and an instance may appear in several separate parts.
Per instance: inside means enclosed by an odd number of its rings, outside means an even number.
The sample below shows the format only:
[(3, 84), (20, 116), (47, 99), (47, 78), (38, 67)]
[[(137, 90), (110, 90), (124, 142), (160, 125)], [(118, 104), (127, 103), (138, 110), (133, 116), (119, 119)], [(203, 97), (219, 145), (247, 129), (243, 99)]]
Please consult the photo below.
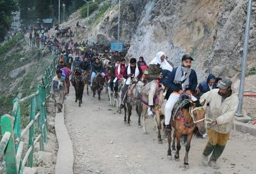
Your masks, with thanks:
[(135, 112), (131, 127), (123, 123), (123, 114), (108, 106), (103, 91), (102, 100), (84, 95), (81, 108), (74, 102), (74, 89), (67, 97), (65, 121), (74, 148), (74, 173), (255, 173), (256, 138), (248, 134), (232, 133), (218, 163), (220, 170), (212, 170), (200, 163), (207, 140), (193, 137), (189, 152), (189, 170), (184, 171), (185, 148), (180, 161), (168, 159), (167, 142), (157, 143), (152, 118), (147, 119), (148, 134), (138, 127)]

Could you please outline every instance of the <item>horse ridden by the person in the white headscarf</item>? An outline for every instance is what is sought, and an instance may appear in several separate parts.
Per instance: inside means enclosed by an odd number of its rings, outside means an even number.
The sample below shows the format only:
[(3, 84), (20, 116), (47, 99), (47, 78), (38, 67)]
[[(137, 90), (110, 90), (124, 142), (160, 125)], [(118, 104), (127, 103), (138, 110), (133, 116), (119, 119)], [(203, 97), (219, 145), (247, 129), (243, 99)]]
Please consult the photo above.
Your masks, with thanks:
[[(159, 144), (163, 144), (163, 140), (161, 137), (161, 120), (163, 120), (163, 112), (161, 111), (161, 106), (164, 103), (164, 87), (158, 87), (157, 88), (157, 92), (156, 95), (154, 96), (154, 107), (152, 108), (152, 111), (154, 112), (154, 124), (155, 127), (157, 127), (157, 137), (158, 137), (158, 143)], [(147, 113), (147, 108), (148, 108), (148, 96), (147, 95), (143, 95), (141, 97), (141, 101), (142, 101), (142, 110), (143, 110), (143, 133), (147, 134), (147, 122), (146, 122), (146, 113)], [(155, 128), (156, 129), (156, 128)]]

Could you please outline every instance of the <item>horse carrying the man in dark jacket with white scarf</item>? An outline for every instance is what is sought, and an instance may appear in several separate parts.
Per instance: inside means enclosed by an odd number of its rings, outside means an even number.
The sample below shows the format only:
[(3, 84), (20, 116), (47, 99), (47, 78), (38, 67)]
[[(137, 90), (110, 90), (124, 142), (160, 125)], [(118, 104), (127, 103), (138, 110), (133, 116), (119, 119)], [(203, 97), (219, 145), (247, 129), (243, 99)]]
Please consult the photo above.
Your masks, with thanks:
[[(138, 78), (132, 78), (131, 85), (127, 91), (127, 101), (125, 102), (125, 108), (124, 108), (124, 124), (127, 123), (128, 126), (130, 126), (130, 117), (132, 114), (132, 106), (136, 106), (136, 113), (138, 114), (138, 126), (141, 126), (140, 123), (140, 117), (141, 117), (141, 96), (139, 93), (139, 90), (143, 87), (144, 83), (139, 81)], [(128, 117), (126, 119), (126, 111), (128, 111)]]

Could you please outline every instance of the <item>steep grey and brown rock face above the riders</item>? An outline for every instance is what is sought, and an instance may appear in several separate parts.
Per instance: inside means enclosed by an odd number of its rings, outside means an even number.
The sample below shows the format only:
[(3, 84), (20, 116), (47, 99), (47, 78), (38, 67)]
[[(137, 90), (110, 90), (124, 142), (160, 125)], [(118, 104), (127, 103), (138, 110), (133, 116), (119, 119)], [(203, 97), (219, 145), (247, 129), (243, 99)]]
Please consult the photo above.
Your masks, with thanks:
[[(112, 2), (91, 36), (117, 40), (117, 4)], [(163, 51), (177, 66), (190, 54), (200, 79), (207, 73), (232, 77), (241, 70), (246, 0), (121, 1), (121, 6), (120, 40), (131, 45), (127, 58), (143, 55), (149, 62)], [(255, 2), (252, 10), (248, 65), (255, 66)]]

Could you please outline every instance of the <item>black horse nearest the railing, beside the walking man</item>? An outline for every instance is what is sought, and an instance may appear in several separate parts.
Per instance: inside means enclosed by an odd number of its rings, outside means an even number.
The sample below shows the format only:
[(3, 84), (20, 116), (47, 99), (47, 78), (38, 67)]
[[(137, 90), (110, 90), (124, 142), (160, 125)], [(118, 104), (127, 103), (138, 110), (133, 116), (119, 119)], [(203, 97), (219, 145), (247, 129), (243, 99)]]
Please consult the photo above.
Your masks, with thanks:
[(73, 85), (75, 87), (76, 91), (76, 101), (79, 100), (79, 107), (81, 107), (81, 103), (83, 103), (83, 92), (84, 92), (84, 85), (86, 83), (86, 78), (83, 73), (75, 72), (75, 75), (73, 76)]

